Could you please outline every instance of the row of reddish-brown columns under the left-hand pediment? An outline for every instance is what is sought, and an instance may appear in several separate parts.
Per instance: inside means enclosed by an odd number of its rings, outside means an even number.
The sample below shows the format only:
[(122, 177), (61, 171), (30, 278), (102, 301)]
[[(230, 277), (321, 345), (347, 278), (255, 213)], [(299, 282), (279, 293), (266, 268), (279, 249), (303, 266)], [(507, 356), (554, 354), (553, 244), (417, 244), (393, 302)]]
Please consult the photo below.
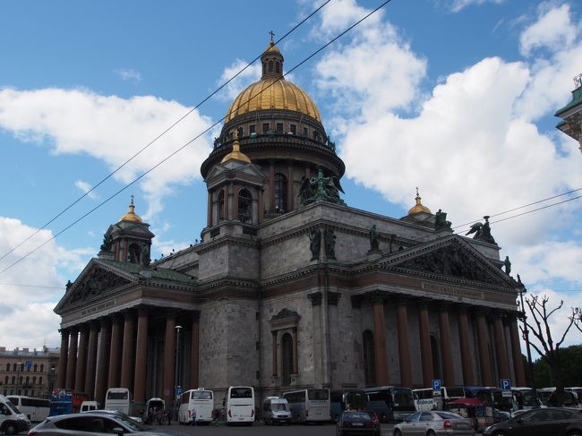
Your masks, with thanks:
[[(169, 404), (175, 395), (177, 319), (178, 312), (165, 312), (161, 377), (163, 398)], [(150, 321), (152, 312), (143, 306), (61, 329), (61, 364), (56, 386), (81, 391), (86, 398), (95, 398), (102, 405), (108, 388), (124, 387), (133, 392), (135, 406), (143, 406), (147, 399)], [(190, 385), (198, 387), (200, 312), (187, 312), (187, 317), (181, 315), (182, 321), (190, 324), (184, 326), (184, 331), (192, 331), (191, 353), (184, 359), (188, 362), (184, 373), (189, 372)], [(150, 361), (154, 358), (150, 356)]]

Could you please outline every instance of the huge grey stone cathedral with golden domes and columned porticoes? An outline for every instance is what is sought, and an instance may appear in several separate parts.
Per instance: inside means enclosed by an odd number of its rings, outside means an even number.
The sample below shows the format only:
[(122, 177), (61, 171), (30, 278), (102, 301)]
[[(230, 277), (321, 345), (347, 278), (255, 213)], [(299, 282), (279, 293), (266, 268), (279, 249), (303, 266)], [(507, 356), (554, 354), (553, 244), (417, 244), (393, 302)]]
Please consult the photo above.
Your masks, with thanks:
[(252, 386), (260, 400), (433, 379), (525, 386), (519, 284), (488, 217), (455, 235), (418, 191), (402, 218), (351, 208), (344, 162), (272, 40), (261, 64), (201, 166), (201, 241), (151, 261), (132, 200), (67, 284), (57, 387), (101, 404), (129, 388), (139, 410), (198, 387)]

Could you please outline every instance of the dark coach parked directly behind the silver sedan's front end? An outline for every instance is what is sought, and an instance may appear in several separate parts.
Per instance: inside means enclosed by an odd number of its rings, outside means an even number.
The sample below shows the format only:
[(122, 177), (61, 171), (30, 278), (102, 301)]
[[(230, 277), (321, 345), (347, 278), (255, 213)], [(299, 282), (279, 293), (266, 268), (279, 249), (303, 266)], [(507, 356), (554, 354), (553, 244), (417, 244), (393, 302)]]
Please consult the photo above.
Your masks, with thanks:
[(382, 423), (404, 421), (416, 412), (415, 396), (410, 388), (379, 386), (364, 391), (368, 409), (376, 412)]

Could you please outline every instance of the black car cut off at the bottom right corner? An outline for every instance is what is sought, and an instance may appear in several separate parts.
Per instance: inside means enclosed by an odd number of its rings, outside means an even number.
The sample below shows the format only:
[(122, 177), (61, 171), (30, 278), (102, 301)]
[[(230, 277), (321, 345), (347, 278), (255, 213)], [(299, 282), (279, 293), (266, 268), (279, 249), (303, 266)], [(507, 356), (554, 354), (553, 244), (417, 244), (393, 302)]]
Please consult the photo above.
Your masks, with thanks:
[(532, 409), (487, 427), (484, 436), (582, 436), (582, 410), (568, 407)]

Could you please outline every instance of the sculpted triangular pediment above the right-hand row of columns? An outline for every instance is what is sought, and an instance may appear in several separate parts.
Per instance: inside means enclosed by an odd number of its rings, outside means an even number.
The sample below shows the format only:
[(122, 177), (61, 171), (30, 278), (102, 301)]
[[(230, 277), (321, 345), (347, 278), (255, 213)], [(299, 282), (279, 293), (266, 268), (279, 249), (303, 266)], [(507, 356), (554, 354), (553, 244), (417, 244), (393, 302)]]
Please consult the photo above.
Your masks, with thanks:
[(457, 235), (401, 252), (385, 263), (390, 269), (512, 286), (512, 278)]

